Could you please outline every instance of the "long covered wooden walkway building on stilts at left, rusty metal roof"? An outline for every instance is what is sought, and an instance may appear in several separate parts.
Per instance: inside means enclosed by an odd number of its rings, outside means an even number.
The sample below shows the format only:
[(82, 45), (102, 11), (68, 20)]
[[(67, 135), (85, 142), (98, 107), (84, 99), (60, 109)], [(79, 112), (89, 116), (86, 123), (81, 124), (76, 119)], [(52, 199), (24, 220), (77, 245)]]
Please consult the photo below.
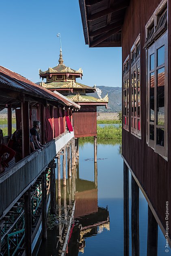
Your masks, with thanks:
[[(8, 136), (3, 138), (4, 144), (11, 138), (15, 109), (17, 126), (22, 120), (23, 156), (18, 163), (11, 161), (0, 174), (0, 254), (30, 256), (41, 227), (42, 239), (46, 239), (49, 204), (55, 213), (55, 158), (74, 140), (72, 110), (80, 106), (2, 66), (0, 95), (0, 111), (8, 111)], [(30, 154), (33, 120), (41, 121), (44, 148)], [(73, 157), (72, 154), (71, 160)]]

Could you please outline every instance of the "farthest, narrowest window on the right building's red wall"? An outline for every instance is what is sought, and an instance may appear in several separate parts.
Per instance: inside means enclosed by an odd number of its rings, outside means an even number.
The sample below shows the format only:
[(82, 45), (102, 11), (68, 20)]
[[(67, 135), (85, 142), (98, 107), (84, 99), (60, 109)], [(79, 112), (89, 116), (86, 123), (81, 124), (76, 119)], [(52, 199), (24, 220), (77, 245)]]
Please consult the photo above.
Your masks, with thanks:
[(129, 72), (130, 59), (129, 56), (123, 63), (123, 128), (129, 130)]

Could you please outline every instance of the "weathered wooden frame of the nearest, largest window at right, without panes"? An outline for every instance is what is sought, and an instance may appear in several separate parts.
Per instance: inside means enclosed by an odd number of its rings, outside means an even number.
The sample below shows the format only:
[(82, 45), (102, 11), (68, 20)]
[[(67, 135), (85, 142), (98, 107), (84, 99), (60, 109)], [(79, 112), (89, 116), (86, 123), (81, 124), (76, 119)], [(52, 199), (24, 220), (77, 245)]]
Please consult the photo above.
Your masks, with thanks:
[[(157, 67), (157, 50), (165, 45), (165, 63)], [(166, 50), (167, 49), (167, 50)], [(167, 81), (167, 32), (163, 33), (160, 38), (158, 38), (152, 46), (147, 49), (147, 144), (149, 147), (154, 149), (154, 152), (160, 154), (167, 160), (167, 112), (168, 112), (168, 99), (167, 99), (167, 91), (168, 91), (168, 81)], [(155, 67), (152, 70), (150, 69), (150, 55), (154, 53), (154, 63)], [(165, 124), (164, 126), (156, 124), (157, 121), (157, 70), (165, 67)], [(150, 121), (150, 74), (154, 72), (154, 122)], [(149, 125), (154, 125), (154, 141), (149, 139)], [(156, 145), (156, 129), (164, 128), (164, 146)]]

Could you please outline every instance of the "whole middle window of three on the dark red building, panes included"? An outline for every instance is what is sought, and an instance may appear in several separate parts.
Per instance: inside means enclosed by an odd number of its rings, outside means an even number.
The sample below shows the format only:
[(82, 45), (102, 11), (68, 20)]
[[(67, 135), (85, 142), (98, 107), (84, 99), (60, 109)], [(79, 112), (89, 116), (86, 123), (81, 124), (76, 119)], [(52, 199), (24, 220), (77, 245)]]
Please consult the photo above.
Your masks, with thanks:
[(140, 36), (131, 49), (131, 133), (141, 138)]

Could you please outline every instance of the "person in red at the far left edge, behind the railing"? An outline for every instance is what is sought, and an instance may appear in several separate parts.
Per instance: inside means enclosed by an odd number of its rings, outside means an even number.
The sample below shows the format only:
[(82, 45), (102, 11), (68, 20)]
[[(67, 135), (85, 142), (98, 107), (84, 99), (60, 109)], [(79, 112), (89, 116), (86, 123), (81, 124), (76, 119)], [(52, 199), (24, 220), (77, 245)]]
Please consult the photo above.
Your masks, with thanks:
[(4, 172), (6, 167), (9, 167), (8, 163), (13, 159), (14, 156), (14, 150), (0, 143), (0, 174)]

